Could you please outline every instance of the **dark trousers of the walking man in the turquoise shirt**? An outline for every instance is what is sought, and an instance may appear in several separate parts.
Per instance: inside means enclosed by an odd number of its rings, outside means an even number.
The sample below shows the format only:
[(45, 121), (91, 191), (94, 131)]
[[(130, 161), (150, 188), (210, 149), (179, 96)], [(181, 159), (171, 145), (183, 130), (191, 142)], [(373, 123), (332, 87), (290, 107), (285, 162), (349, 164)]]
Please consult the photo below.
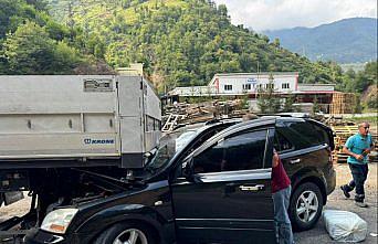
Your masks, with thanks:
[(355, 195), (356, 202), (364, 202), (364, 199), (365, 199), (364, 184), (367, 179), (368, 171), (369, 171), (368, 165), (367, 163), (364, 163), (364, 165), (348, 163), (348, 165), (351, 171), (353, 180), (349, 182), (349, 184), (345, 184), (345, 190), (349, 192), (356, 188), (356, 195)]

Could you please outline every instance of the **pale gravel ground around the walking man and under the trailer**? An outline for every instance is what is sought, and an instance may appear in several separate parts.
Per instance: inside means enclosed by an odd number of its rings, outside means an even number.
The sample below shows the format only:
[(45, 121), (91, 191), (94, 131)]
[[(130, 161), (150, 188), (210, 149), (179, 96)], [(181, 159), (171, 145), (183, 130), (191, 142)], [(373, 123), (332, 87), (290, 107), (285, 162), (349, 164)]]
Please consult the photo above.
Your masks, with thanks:
[[(354, 213), (357, 213), (360, 218), (368, 222), (368, 235), (364, 243), (366, 244), (376, 244), (377, 236), (377, 163), (369, 165), (369, 174), (368, 180), (366, 182), (366, 195), (367, 203), (369, 208), (361, 209), (354, 204), (354, 200), (345, 199), (344, 194), (339, 190), (339, 185), (349, 182), (351, 179), (351, 174), (349, 172), (349, 168), (347, 165), (335, 165), (335, 170), (337, 172), (337, 182), (335, 191), (328, 195), (328, 202), (325, 209), (332, 210), (346, 210)], [(0, 209), (0, 222), (9, 215), (22, 215), (28, 211), (30, 204), (30, 199), (27, 198), (20, 202), (17, 202), (12, 205), (4, 206)], [(330, 240), (327, 234), (324, 222), (321, 221), (317, 225), (306, 232), (295, 233), (294, 234), (295, 242), (297, 244), (327, 244), (327, 243), (337, 243)]]

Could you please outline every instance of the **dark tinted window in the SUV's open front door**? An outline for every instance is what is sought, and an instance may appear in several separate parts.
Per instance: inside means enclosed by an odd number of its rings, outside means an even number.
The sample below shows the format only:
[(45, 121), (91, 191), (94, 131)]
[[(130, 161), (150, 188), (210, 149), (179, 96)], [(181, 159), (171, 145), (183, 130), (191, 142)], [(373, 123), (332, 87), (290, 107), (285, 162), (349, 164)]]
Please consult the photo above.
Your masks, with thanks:
[(195, 173), (260, 169), (265, 140), (266, 130), (227, 137), (193, 158)]

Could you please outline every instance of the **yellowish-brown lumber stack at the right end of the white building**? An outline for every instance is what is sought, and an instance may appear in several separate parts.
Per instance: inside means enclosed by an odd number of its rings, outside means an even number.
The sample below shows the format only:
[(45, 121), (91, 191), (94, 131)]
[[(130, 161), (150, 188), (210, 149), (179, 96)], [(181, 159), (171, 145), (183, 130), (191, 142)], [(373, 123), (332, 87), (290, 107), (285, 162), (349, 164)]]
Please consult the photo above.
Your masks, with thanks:
[(356, 95), (353, 93), (335, 93), (332, 97), (330, 114), (353, 114)]

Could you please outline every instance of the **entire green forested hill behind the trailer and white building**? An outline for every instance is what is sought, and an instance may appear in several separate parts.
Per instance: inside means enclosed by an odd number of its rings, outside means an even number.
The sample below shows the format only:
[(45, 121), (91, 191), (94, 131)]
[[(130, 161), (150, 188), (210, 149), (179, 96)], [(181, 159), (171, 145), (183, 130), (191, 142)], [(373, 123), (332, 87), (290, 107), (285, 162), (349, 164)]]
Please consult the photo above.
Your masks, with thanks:
[(258, 71), (346, 87), (336, 63), (312, 63), (232, 25), (225, 6), (211, 0), (0, 0), (0, 20), (2, 74), (109, 73), (143, 62), (160, 91)]

